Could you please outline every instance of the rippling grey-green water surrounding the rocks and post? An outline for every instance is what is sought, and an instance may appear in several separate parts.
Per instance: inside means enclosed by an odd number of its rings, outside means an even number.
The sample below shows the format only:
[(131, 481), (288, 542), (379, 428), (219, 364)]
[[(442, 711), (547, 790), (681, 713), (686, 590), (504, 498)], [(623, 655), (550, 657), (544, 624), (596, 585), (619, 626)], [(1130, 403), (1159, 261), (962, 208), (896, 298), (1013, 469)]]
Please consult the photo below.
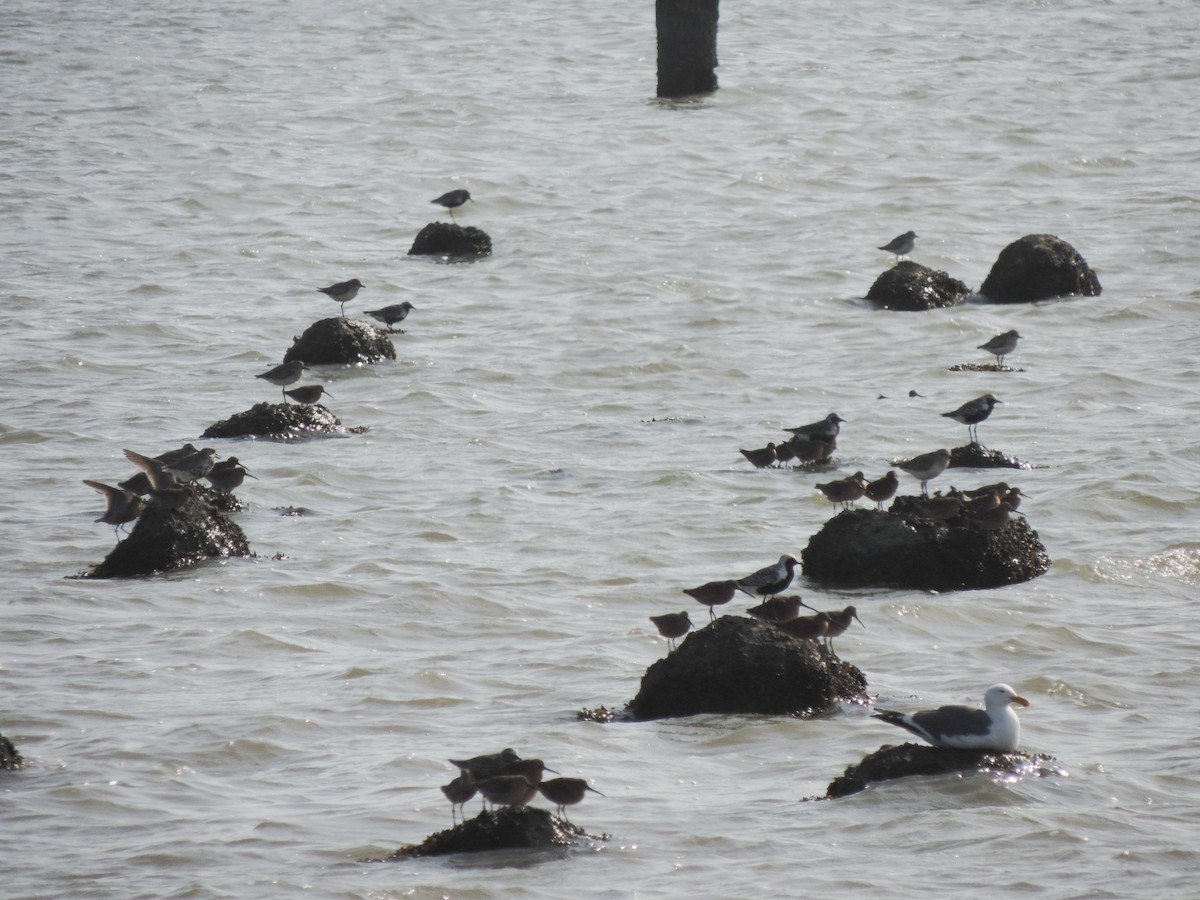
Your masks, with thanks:
[[(6, 896), (1194, 893), (1189, 5), (726, 4), (721, 90), (686, 103), (652, 97), (649, 2), (196, 6), (0, 26)], [(494, 256), (406, 258), (460, 186)], [(908, 228), (972, 286), (1058, 234), (1104, 294), (875, 312)], [(416, 311), (395, 364), (305, 382), (366, 434), (217, 443), (259, 476), (258, 557), (66, 578), (110, 548), (80, 479), (272, 398), (253, 376), (348, 277), (352, 316)], [(1009, 328), (1021, 372), (948, 371)], [(1044, 467), (1050, 572), (804, 593), (857, 604), (839, 649), (883, 703), (1010, 682), (1069, 775), (804, 804), (899, 736), (856, 707), (575, 721), (636, 694), (683, 587), (828, 517), (739, 446), (835, 409), (875, 478), (988, 391), (983, 440)], [(502, 746), (588, 778), (572, 817), (611, 839), (358, 862), (446, 827), (445, 757)]]

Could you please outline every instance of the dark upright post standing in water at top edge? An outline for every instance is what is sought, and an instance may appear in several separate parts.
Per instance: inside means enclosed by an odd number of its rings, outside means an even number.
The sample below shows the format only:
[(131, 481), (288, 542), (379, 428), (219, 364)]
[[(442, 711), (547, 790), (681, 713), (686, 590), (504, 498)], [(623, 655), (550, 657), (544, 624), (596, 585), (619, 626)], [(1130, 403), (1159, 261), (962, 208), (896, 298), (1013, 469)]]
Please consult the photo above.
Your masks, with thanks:
[(655, 0), (659, 96), (716, 90), (718, 0)]

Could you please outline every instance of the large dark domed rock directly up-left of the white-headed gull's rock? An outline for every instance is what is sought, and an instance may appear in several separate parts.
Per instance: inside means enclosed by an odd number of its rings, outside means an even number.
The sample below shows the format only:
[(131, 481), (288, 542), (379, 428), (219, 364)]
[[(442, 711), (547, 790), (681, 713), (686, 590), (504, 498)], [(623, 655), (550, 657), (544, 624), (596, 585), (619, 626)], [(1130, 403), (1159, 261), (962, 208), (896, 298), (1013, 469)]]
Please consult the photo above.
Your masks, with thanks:
[(758, 619), (721, 616), (650, 666), (626, 709), (636, 720), (697, 713), (786, 715), (857, 700), (865, 690), (866, 678), (856, 666), (815, 641), (798, 641)]

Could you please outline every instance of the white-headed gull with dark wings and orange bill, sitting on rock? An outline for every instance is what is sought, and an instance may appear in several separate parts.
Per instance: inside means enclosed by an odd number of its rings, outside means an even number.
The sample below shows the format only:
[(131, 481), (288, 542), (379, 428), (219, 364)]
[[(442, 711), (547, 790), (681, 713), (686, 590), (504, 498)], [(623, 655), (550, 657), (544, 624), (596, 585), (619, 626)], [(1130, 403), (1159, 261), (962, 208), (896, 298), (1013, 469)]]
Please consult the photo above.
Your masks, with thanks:
[(907, 728), (934, 746), (1010, 754), (1021, 740), (1021, 720), (1016, 718), (1013, 703), (1027, 707), (1030, 701), (1007, 684), (994, 684), (983, 695), (983, 709), (961, 706), (923, 709), (919, 713), (876, 709), (872, 718)]

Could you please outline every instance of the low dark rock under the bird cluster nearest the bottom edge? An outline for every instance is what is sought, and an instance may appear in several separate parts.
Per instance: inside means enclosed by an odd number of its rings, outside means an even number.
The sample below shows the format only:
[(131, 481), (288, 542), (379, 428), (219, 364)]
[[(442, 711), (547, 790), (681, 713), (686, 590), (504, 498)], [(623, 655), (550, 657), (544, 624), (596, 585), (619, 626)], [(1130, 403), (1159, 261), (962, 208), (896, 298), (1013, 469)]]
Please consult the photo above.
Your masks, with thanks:
[(565, 847), (583, 834), (547, 810), (532, 806), (505, 806), (500, 810), (480, 812), (445, 832), (431, 834), (420, 844), (401, 847), (385, 859), (367, 862), (396, 862), (416, 857), (436, 857), (448, 853), (478, 853), (485, 850), (539, 850)]

